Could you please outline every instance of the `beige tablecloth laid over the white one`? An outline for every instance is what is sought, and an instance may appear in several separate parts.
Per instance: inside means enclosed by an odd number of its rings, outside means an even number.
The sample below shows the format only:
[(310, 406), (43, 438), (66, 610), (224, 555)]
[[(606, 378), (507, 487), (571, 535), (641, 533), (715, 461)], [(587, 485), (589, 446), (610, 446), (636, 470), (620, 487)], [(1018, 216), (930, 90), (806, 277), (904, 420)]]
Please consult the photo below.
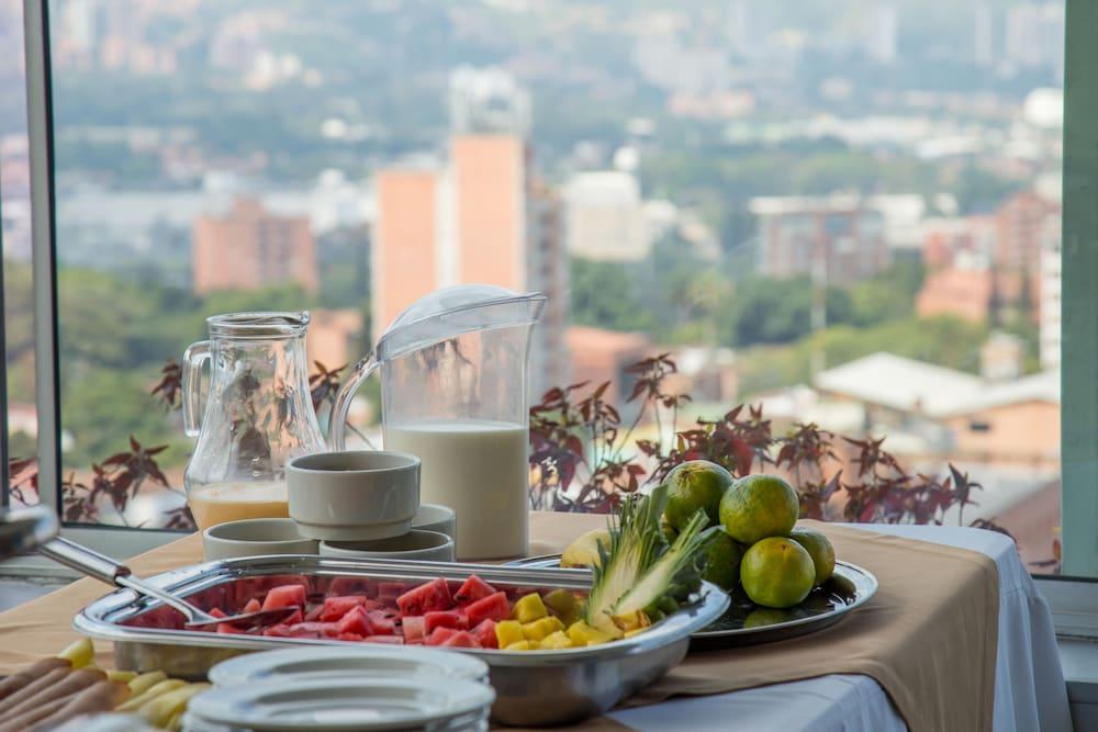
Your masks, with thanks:
[[(530, 551), (560, 551), (605, 517), (534, 514)], [(842, 622), (813, 635), (747, 649), (692, 654), (677, 668), (629, 700), (657, 703), (674, 696), (721, 694), (828, 674), (865, 674), (885, 689), (912, 731), (991, 729), (998, 628), (998, 575), (978, 552), (816, 525), (841, 559), (873, 572), (881, 588)], [(201, 561), (198, 536), (135, 558), (138, 574), (153, 575)], [(76, 638), (69, 623), (104, 587), (81, 579), (0, 613), (0, 673), (7, 674)], [(110, 666), (110, 649), (98, 647)], [(609, 719), (578, 729), (623, 727)]]

